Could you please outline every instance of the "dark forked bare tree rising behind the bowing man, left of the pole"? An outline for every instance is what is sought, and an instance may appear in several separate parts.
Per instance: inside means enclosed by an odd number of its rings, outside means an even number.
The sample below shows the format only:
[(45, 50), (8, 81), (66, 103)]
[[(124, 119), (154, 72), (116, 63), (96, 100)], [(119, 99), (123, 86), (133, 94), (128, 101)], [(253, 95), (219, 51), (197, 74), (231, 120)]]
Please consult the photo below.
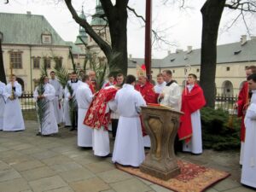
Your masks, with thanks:
[(102, 39), (90, 26), (87, 20), (79, 17), (71, 0), (65, 0), (67, 8), (73, 15), (73, 19), (87, 32), (107, 57), (110, 72), (127, 73), (127, 4), (129, 0), (117, 0), (115, 4), (111, 0), (100, 0), (104, 15), (108, 20), (111, 37), (111, 45)]

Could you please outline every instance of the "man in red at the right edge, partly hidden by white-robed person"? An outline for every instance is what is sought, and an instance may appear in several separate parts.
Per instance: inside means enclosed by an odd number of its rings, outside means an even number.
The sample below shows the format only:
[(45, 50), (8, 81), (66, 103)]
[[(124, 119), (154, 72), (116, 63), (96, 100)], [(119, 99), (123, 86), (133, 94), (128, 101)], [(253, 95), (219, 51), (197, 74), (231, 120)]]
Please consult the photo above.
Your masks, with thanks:
[[(247, 67), (245, 72), (246, 72), (246, 76), (248, 77), (249, 75), (256, 73), (256, 67), (255, 66)], [(243, 148), (244, 148), (245, 135), (246, 135), (246, 128), (244, 125), (244, 117), (245, 117), (247, 107), (250, 102), (248, 93), (249, 93), (248, 84), (247, 84), (247, 82), (245, 82), (242, 85), (242, 88), (238, 95), (238, 100), (235, 104), (235, 108), (237, 108), (237, 116), (241, 117), (241, 135), (240, 135), (241, 151), (240, 151), (240, 160), (239, 160), (240, 165), (242, 165)]]

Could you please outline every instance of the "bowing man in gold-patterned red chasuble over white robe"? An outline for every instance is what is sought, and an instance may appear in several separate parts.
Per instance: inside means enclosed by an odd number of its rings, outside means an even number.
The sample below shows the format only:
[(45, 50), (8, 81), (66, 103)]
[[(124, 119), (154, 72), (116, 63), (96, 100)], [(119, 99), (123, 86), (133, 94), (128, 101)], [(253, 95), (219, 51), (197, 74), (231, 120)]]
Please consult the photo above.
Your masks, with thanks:
[(108, 126), (111, 124), (110, 113), (115, 110), (114, 96), (119, 87), (108, 86), (96, 93), (84, 118), (84, 125), (93, 129), (93, 150), (96, 156), (110, 154)]

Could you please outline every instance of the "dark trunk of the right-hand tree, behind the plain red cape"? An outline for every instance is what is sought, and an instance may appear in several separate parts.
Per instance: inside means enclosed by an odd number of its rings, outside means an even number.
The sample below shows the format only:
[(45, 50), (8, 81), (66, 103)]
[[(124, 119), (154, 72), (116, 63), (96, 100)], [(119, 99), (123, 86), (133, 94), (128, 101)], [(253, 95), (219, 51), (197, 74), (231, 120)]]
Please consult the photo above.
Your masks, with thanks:
[(201, 73), (200, 84), (204, 90), (207, 107), (215, 106), (215, 75), (217, 62), (218, 26), (226, 0), (207, 0), (201, 8)]

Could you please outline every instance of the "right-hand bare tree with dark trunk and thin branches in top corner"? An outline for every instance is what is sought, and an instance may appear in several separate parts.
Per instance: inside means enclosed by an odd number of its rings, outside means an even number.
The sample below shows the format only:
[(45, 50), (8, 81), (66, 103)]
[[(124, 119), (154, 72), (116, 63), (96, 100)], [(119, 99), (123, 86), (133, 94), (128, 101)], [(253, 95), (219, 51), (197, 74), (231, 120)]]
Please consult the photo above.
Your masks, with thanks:
[(224, 8), (239, 10), (231, 25), (239, 17), (242, 17), (249, 33), (245, 13), (256, 12), (256, 1), (254, 0), (207, 0), (201, 8), (203, 18), (201, 36), (201, 87), (204, 90), (207, 106), (214, 108), (215, 105), (215, 75), (217, 63), (217, 39), (218, 26), (223, 15)]

